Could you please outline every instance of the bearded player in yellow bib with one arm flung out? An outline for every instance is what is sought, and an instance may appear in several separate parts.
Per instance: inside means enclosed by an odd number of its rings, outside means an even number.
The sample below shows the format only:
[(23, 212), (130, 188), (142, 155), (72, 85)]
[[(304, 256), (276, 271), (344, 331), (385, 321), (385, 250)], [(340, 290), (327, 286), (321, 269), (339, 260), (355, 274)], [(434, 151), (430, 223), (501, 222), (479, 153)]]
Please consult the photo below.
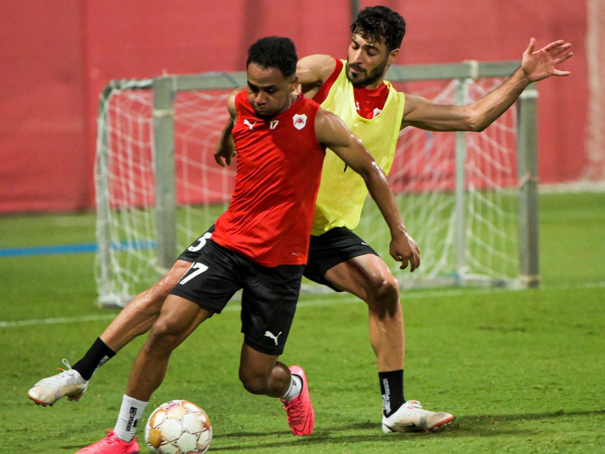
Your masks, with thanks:
[[(571, 44), (564, 41), (534, 51), (532, 38), (523, 53), (522, 67), (499, 88), (468, 107), (437, 105), (417, 95), (399, 93), (384, 80), (399, 55), (405, 34), (405, 21), (398, 13), (384, 6), (367, 7), (359, 13), (351, 32), (346, 61), (328, 55), (308, 56), (298, 61), (296, 74), (302, 93), (341, 117), (385, 173), (393, 163), (401, 129), (413, 126), (429, 131), (483, 131), (511, 107), (531, 82), (569, 75), (569, 71), (555, 67), (572, 56)], [(335, 229), (355, 229), (366, 196), (362, 180), (347, 171), (338, 157), (327, 155), (312, 234), (321, 239)], [(452, 416), (422, 410), (417, 401), (404, 398), (405, 335), (399, 284), (372, 252), (336, 263), (325, 271), (324, 283), (368, 304), (370, 342), (378, 360), (384, 404), (384, 432), (437, 429), (449, 423)], [(307, 277), (310, 266), (311, 258)]]

